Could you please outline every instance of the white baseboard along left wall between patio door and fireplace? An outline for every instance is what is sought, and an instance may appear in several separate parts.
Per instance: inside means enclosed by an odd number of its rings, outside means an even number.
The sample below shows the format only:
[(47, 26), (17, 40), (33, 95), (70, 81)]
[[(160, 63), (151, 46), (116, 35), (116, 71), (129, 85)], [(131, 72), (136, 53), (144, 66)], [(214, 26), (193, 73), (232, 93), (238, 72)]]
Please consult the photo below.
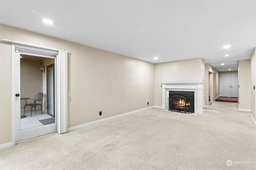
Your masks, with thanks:
[(118, 114), (116, 116), (111, 116), (109, 118), (104, 118), (104, 119), (96, 120), (96, 121), (93, 121), (93, 122), (88, 122), (88, 123), (85, 123), (85, 124), (81, 124), (81, 125), (78, 125), (78, 126), (73, 126), (71, 128), (68, 128), (68, 131), (76, 130), (76, 129), (79, 129), (79, 128), (83, 128), (83, 127), (90, 126), (92, 124), (97, 124), (97, 123), (100, 123), (100, 122), (104, 122), (104, 121), (107, 121), (107, 120), (116, 119), (116, 118), (119, 118), (119, 117), (122, 117), (122, 116), (126, 116), (128, 114), (134, 114), (134, 113), (141, 112), (141, 111), (144, 111), (144, 110), (148, 110), (148, 109), (151, 109), (151, 108), (154, 108), (154, 107), (155, 106), (150, 106), (150, 107), (147, 107), (147, 108), (134, 110), (132, 112), (127, 112), (127, 113), (123, 113), (123, 114)]

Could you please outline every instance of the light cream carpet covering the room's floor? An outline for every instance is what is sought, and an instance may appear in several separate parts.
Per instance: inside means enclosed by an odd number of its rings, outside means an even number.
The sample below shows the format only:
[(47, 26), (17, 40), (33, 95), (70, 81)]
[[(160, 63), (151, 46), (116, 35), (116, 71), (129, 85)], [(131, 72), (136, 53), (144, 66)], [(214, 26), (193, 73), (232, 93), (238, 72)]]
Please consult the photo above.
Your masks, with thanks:
[(153, 108), (0, 150), (0, 169), (255, 170), (256, 125), (237, 103), (196, 116)]

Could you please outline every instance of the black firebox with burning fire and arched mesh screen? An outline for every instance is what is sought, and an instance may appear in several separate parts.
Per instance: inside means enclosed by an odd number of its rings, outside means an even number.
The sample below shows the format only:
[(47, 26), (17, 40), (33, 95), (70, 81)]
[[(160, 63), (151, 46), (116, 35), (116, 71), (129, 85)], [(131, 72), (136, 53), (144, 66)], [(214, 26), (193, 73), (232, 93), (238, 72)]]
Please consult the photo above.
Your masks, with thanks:
[(168, 110), (194, 113), (194, 92), (169, 91)]

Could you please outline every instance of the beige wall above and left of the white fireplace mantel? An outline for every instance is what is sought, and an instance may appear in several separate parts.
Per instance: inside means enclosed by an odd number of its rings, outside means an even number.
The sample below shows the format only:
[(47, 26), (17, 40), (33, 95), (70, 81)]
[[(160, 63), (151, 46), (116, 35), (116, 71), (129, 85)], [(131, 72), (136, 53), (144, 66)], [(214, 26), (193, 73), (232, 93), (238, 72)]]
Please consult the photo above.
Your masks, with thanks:
[(203, 82), (204, 60), (194, 58), (155, 64), (155, 105), (162, 106), (164, 82)]

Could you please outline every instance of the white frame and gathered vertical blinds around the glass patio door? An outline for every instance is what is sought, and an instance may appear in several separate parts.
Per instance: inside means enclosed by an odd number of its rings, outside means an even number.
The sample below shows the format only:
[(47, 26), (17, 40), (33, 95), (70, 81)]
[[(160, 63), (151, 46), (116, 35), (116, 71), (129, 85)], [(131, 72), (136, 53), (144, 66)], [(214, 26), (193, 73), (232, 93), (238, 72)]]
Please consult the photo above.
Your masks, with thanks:
[[(30, 51), (31, 54), (44, 54), (44, 56), (56, 55), (56, 116), (57, 132), (59, 134), (68, 132), (68, 51), (27, 44), (13, 40), (3, 39), (12, 43), (12, 65), (14, 64), (15, 48)], [(15, 139), (15, 90), (14, 90), (14, 67), (12, 66), (12, 145)]]

